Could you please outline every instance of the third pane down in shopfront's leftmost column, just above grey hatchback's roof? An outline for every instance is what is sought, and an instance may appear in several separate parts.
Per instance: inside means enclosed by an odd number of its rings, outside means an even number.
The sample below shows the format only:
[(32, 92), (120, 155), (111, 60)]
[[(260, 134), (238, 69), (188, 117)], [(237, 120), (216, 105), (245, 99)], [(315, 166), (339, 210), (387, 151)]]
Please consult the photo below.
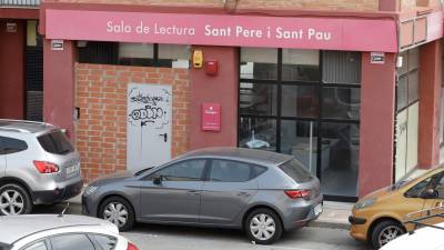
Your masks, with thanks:
[(275, 119), (241, 117), (239, 146), (276, 151), (276, 131)]

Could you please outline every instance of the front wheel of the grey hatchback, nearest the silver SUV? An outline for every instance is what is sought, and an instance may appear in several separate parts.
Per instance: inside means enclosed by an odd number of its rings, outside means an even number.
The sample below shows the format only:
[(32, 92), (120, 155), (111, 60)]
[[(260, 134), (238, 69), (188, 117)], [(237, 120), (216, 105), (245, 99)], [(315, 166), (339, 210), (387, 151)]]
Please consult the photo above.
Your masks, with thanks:
[(120, 231), (131, 230), (134, 224), (134, 210), (123, 198), (111, 197), (100, 206), (100, 218), (118, 226)]

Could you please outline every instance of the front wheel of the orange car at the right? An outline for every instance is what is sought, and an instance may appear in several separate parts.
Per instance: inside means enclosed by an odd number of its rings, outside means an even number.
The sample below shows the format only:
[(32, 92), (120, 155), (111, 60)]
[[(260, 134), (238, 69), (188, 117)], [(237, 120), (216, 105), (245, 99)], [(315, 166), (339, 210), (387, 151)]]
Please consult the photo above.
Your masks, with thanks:
[(385, 220), (377, 223), (372, 232), (372, 244), (375, 249), (405, 233), (404, 228), (396, 221)]

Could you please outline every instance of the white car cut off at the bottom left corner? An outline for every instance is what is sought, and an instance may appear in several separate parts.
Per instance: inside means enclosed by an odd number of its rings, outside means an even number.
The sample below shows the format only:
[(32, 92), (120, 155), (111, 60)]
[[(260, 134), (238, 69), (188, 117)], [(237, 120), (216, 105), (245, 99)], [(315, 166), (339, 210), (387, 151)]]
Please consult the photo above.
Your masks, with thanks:
[(0, 217), (0, 250), (138, 250), (111, 222), (71, 214)]

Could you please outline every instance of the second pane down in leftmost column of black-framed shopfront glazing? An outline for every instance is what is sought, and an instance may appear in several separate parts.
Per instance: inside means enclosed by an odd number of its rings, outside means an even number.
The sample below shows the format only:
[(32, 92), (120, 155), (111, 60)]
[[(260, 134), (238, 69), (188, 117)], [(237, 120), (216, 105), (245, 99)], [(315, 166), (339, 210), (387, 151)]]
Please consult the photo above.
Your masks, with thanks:
[(241, 82), (239, 91), (242, 114), (275, 116), (278, 113), (275, 84)]

